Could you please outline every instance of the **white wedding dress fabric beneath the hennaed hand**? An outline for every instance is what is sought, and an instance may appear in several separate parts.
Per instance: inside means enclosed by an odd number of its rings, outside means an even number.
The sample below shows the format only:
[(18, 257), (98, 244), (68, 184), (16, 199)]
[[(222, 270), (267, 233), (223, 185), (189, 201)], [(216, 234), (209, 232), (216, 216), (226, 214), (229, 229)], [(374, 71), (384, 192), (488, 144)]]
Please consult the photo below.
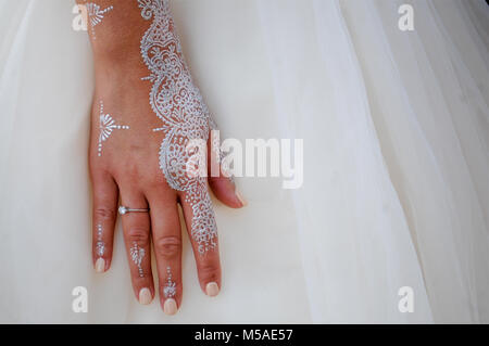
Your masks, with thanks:
[(485, 1), (172, 1), (221, 137), (304, 140), (300, 189), (239, 178), (249, 206), (215, 203), (218, 297), (186, 241), (175, 317), (135, 299), (120, 226), (111, 270), (91, 266), (92, 61), (73, 8), (0, 1), (1, 322), (489, 322)]

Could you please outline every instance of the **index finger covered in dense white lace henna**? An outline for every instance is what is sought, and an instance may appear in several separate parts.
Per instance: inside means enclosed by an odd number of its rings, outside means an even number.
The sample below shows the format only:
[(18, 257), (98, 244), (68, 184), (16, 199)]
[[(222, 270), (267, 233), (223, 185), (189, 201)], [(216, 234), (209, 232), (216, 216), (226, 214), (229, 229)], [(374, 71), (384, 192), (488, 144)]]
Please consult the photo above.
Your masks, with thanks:
[(202, 291), (215, 296), (221, 290), (221, 264), (217, 227), (205, 179), (200, 178), (188, 192), (179, 195), (187, 231), (191, 240)]

